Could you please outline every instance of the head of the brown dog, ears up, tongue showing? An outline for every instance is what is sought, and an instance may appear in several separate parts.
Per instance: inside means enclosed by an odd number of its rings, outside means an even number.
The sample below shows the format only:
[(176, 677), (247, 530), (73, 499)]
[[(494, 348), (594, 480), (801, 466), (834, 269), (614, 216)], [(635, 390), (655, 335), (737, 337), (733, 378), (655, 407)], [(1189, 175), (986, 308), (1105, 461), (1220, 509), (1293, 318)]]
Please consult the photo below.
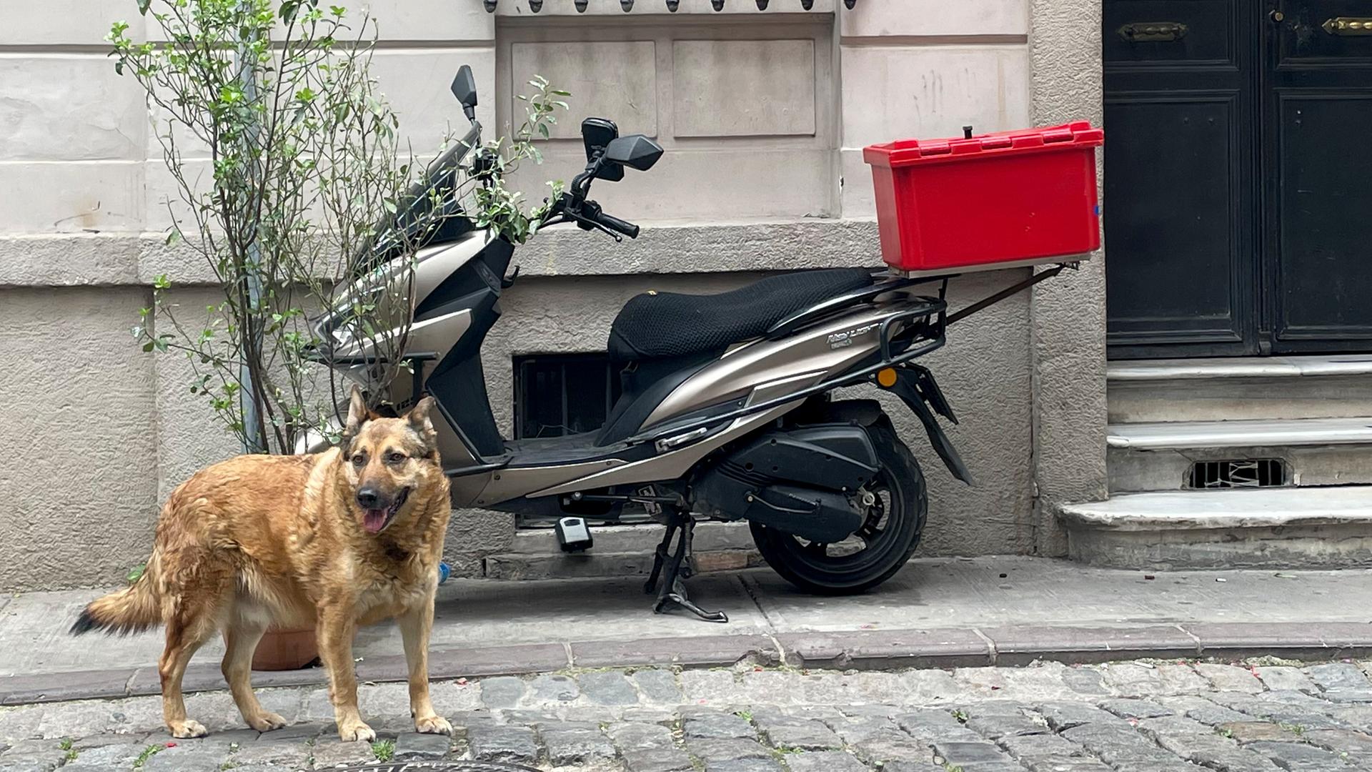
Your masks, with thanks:
[(368, 533), (386, 530), (416, 489), (442, 475), (432, 409), (434, 397), (424, 397), (401, 418), (381, 418), (353, 387), (342, 442), (343, 474)]

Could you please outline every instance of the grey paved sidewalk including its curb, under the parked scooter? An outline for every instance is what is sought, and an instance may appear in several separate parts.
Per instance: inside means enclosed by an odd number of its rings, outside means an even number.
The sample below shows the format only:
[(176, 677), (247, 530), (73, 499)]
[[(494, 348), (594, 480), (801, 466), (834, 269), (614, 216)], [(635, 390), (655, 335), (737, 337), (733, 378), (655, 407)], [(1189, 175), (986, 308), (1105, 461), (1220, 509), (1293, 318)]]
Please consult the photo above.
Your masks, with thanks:
[[(770, 570), (690, 580), (716, 625), (654, 615), (641, 580), (454, 581), (440, 588), (435, 677), (568, 666), (727, 666), (741, 659), (864, 668), (1102, 662), (1129, 657), (1372, 651), (1372, 570), (1143, 574), (1033, 558), (915, 560), (878, 591), (799, 593)], [(0, 598), (0, 705), (156, 694), (156, 632), (71, 637), (99, 591)], [(187, 674), (221, 688), (218, 642)], [(364, 679), (403, 679), (391, 625), (362, 631)], [(263, 685), (322, 683), (320, 670), (261, 673)]]

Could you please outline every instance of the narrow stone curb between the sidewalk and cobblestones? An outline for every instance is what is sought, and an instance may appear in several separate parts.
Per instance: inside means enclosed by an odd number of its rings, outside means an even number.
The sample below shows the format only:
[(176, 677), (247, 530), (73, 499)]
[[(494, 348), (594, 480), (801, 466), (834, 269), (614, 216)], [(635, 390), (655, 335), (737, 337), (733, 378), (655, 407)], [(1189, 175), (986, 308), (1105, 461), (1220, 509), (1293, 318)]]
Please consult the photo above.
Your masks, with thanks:
[[(778, 651), (778, 646), (781, 651)], [(445, 648), (429, 652), (429, 677), (487, 677), (568, 668), (729, 668), (741, 661), (797, 668), (882, 670), (893, 668), (1021, 666), (1032, 661), (1069, 665), (1142, 658), (1335, 659), (1372, 655), (1372, 624), (1203, 622), (1118, 628), (1003, 626), (929, 631), (841, 631), (768, 635), (659, 637), (634, 642), (578, 642)], [(405, 657), (358, 662), (361, 681), (403, 681)], [(255, 672), (255, 687), (322, 685), (325, 673)], [(38, 673), (0, 679), (0, 706), (71, 699), (155, 695), (156, 668)], [(211, 663), (187, 669), (187, 692), (222, 690)]]

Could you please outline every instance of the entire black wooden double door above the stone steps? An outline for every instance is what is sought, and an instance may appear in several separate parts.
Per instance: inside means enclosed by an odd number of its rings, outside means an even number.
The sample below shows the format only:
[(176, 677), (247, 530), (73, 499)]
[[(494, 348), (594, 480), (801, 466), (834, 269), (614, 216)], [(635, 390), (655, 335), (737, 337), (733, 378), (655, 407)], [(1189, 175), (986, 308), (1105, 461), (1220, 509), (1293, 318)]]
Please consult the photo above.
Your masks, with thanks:
[(1104, 0), (1111, 357), (1372, 348), (1354, 7)]

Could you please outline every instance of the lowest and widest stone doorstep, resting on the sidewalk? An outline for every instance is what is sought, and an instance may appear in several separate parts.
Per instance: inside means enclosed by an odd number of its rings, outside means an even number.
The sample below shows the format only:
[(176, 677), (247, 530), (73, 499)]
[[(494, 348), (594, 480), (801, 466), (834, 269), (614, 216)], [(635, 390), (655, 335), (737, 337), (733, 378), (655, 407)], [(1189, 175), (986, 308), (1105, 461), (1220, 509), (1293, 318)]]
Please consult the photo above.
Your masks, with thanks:
[(1174, 490), (1063, 508), (1070, 555), (1118, 569), (1372, 566), (1372, 486)]

